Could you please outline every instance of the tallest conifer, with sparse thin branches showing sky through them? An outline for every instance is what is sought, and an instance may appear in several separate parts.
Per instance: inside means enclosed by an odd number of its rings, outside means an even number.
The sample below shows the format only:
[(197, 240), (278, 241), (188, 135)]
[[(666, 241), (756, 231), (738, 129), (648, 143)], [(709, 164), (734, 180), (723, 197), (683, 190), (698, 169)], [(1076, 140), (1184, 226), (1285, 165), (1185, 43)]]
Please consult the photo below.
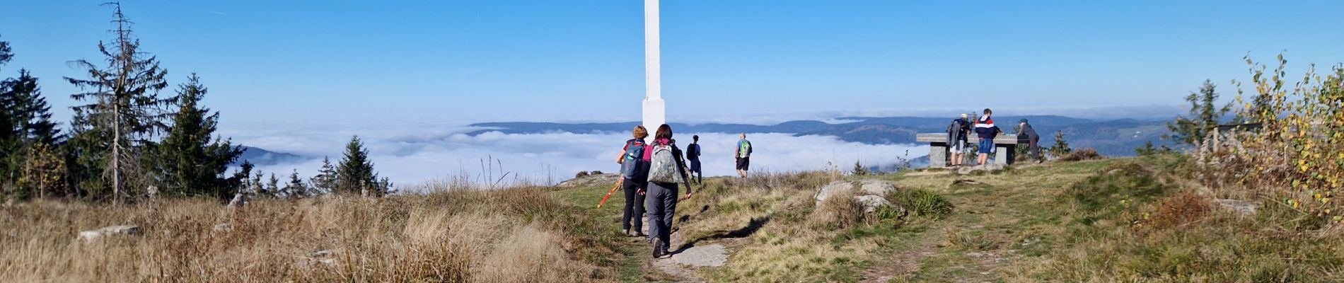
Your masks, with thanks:
[[(110, 180), (113, 203), (122, 203), (128, 185), (145, 185), (140, 170), (140, 150), (153, 146), (152, 141), (167, 129), (164, 111), (176, 98), (160, 98), (159, 91), (168, 87), (164, 76), (167, 70), (159, 67), (159, 60), (140, 50), (140, 40), (130, 30), (130, 20), (121, 12), (121, 5), (108, 3), (113, 8), (116, 39), (98, 43), (98, 51), (106, 58), (106, 67), (98, 67), (89, 60), (75, 60), (74, 64), (87, 72), (87, 79), (66, 78), (67, 82), (87, 93), (71, 94), (75, 101), (89, 102), (74, 106), (77, 118), (71, 125), (83, 134), (82, 142), (75, 142), (79, 154), (97, 156), (82, 158), (83, 172), (102, 170), (101, 177)], [(79, 137), (77, 137), (79, 138)], [(97, 164), (89, 164), (95, 161)], [(90, 177), (90, 176), (81, 176)], [(86, 181), (86, 180), (81, 180)], [(133, 186), (130, 186), (133, 188)], [(108, 188), (87, 188), (102, 192)]]

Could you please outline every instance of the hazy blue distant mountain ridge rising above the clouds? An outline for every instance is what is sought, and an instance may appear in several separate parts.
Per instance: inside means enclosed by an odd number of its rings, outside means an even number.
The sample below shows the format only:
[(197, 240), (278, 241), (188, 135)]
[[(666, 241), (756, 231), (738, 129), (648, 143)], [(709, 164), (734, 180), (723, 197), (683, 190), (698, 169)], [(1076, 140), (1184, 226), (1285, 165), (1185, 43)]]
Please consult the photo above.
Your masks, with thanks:
[[(1111, 119), (1094, 121), (1071, 118), (1062, 115), (1025, 115), (1025, 117), (995, 117), (995, 122), (1005, 133), (1016, 133), (1013, 129), (1017, 121), (1028, 119), (1040, 137), (1040, 145), (1055, 144), (1055, 133), (1063, 131), (1064, 139), (1071, 148), (1094, 148), (1106, 156), (1133, 156), (1134, 148), (1152, 141), (1154, 145), (1164, 145), (1161, 135), (1167, 134), (1167, 121), (1153, 119)], [(915, 144), (918, 133), (943, 133), (953, 118), (929, 117), (840, 117), (843, 123), (827, 123), (821, 121), (788, 121), (775, 125), (746, 125), (746, 123), (669, 123), (680, 133), (780, 133), (793, 135), (832, 135), (841, 141), (862, 142), (870, 145)], [(485, 127), (468, 133), (478, 135), (491, 131), (505, 134), (543, 134), (543, 133), (622, 133), (640, 122), (613, 122), (613, 123), (554, 123), (554, 122), (487, 122), (472, 123), (473, 127)]]

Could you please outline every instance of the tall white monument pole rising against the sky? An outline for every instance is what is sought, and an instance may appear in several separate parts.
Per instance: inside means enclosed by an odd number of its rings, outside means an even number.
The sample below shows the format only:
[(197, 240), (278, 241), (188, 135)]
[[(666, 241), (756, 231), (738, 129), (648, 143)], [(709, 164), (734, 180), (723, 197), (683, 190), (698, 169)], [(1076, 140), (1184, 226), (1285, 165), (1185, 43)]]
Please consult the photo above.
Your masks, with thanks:
[(644, 0), (644, 127), (653, 133), (667, 121), (659, 56), (659, 0)]

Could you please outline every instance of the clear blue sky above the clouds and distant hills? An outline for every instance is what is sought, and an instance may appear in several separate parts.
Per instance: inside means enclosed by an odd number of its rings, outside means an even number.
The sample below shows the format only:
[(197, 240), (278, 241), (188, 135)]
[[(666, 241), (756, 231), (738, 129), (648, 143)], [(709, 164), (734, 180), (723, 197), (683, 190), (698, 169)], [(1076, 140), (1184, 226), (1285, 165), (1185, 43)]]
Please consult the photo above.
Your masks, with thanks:
[[(5, 1), (0, 40), (67, 119), (98, 1)], [(634, 121), (642, 1), (126, 0), (176, 84), (231, 121)], [(1344, 1), (664, 0), (673, 121), (1177, 105), (1242, 56), (1344, 62)], [(1296, 78), (1296, 75), (1292, 75)], [(171, 90), (171, 89), (169, 89)], [(927, 113), (927, 111), (926, 111)], [(956, 113), (956, 111), (949, 111)], [(1090, 118), (1090, 117), (1083, 117)]]

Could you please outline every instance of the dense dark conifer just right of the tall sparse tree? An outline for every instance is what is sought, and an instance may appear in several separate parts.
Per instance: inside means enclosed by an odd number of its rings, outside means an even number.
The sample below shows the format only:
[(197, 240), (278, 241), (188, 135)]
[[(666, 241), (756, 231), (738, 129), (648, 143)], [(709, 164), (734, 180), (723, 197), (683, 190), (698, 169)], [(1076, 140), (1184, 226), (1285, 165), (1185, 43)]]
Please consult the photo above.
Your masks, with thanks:
[(196, 74), (177, 86), (177, 114), (168, 137), (156, 152), (164, 180), (159, 188), (164, 192), (228, 200), (234, 189), (224, 173), (245, 149), (233, 146), (231, 139), (212, 137), (219, 113), (210, 113), (210, 109), (200, 106), (206, 93), (207, 89), (200, 84)]

